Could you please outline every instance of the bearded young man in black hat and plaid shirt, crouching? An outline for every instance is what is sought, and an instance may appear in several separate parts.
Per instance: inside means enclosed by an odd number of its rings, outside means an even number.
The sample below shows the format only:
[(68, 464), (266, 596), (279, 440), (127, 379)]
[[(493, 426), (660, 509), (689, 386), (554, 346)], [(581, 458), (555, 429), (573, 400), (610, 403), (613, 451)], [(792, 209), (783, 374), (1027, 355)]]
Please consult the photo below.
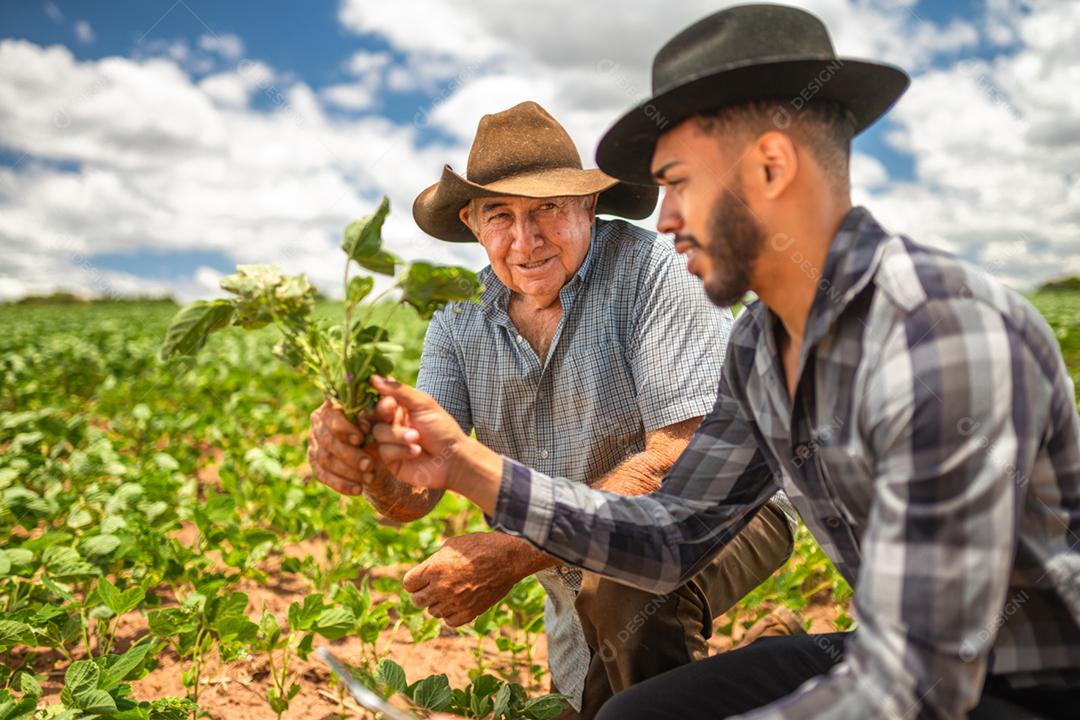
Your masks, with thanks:
[(660, 230), (714, 302), (760, 298), (661, 490), (530, 471), (379, 381), (383, 459), (654, 592), (787, 492), (854, 587), (858, 628), (672, 670), (605, 720), (1076, 717), (1080, 420), (1056, 340), (993, 277), (851, 207), (850, 139), (906, 76), (837, 58), (808, 13), (743, 5), (665, 45), (653, 85), (600, 142), (602, 168), (666, 188)]

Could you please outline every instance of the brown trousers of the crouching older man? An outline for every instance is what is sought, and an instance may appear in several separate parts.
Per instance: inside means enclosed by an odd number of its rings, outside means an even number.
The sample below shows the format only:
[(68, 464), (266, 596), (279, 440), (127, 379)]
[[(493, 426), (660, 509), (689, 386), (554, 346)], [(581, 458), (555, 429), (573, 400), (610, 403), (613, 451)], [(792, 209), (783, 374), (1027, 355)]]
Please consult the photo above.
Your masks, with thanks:
[(591, 720), (616, 693), (708, 656), (713, 620), (765, 582), (791, 555), (783, 513), (765, 505), (712, 562), (669, 595), (584, 573), (575, 607), (591, 651), (580, 712)]

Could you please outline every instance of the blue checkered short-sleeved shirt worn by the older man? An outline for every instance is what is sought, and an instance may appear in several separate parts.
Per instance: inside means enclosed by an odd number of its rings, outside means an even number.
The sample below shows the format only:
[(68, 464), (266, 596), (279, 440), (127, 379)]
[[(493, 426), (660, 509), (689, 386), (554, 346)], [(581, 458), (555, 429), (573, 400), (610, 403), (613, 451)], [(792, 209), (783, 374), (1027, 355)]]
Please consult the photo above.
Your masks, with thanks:
[[(704, 416), (716, 398), (732, 316), (706, 299), (671, 242), (597, 220), (588, 255), (559, 291), (546, 358), (507, 313), (510, 290), (481, 271), (478, 304), (432, 318), (417, 386), (465, 432), (542, 473), (592, 483), (645, 449), (645, 434)], [(552, 678), (578, 704), (589, 647), (573, 608), (581, 571), (538, 573)]]

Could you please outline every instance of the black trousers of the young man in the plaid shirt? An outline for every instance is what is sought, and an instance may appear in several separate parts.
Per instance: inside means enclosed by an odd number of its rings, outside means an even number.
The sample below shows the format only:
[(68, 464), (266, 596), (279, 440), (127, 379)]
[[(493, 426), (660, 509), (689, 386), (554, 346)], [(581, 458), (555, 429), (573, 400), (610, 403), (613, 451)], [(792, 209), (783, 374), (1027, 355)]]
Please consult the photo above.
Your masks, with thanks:
[[(761, 638), (679, 667), (619, 693), (597, 720), (714, 720), (757, 709), (795, 692), (843, 658), (848, 633)], [(1080, 690), (1013, 691), (991, 677), (969, 720), (1075, 719)]]

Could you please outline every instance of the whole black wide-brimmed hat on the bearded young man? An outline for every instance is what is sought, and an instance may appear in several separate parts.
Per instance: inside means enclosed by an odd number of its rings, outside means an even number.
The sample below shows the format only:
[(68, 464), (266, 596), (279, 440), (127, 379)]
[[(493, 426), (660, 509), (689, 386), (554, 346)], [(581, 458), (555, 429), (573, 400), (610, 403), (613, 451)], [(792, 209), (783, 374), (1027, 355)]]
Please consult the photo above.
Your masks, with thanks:
[[(620, 118), (600, 139), (596, 164), (626, 182), (652, 185), (657, 139), (692, 116), (755, 100), (802, 107), (832, 100), (846, 107), (860, 133), (904, 94), (897, 67), (837, 57), (825, 25), (786, 5), (721, 10), (672, 38), (652, 62), (652, 97)], [(783, 126), (784, 113), (778, 118)]]

